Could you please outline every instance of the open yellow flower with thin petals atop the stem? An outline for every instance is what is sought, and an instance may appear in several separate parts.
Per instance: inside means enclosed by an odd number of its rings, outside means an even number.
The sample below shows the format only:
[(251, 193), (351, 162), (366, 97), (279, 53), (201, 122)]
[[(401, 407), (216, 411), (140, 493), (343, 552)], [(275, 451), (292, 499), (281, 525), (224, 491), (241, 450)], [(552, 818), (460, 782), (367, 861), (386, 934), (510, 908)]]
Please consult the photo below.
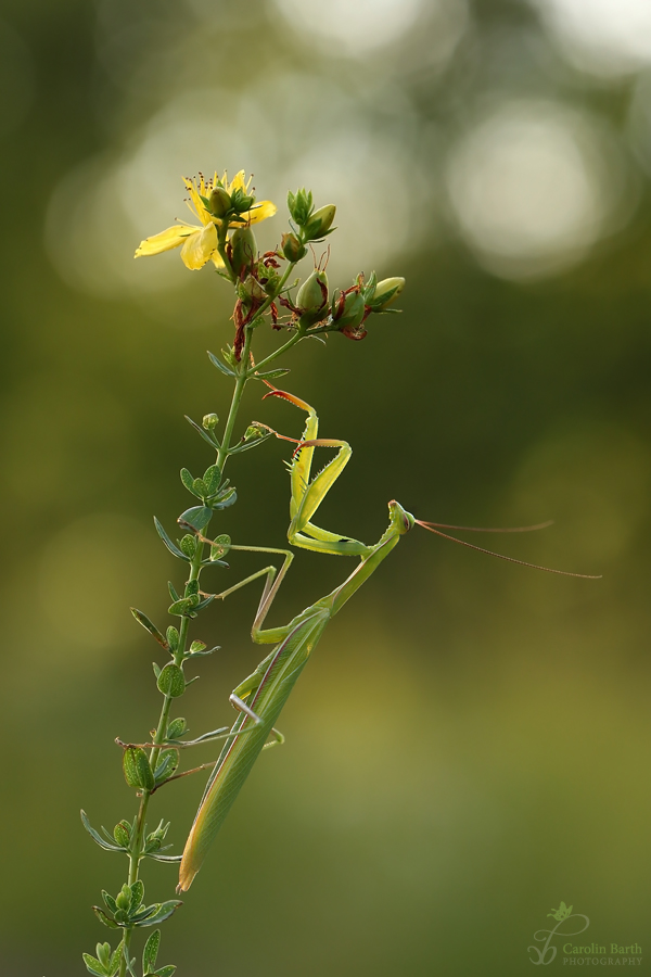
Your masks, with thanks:
[[(179, 248), (179, 245), (182, 244), (181, 258), (183, 259), (186, 267), (190, 268), (192, 271), (203, 268), (206, 262), (209, 261), (218, 268), (222, 268), (224, 262), (221, 255), (217, 251), (217, 228), (220, 227), (221, 220), (210, 214), (202, 201), (202, 196), (209, 198), (213, 188), (219, 183), (221, 183), (229, 195), (231, 195), (234, 190), (246, 193), (251, 186), (251, 180), (252, 177), (248, 177), (248, 180), (244, 179), (243, 169), (240, 170), (230, 183), (226, 170), (221, 180), (219, 180), (216, 173), (215, 176), (208, 180), (204, 179), (203, 174), (200, 174), (199, 182), (183, 177), (186, 189), (190, 193), (190, 200), (186, 201), (186, 203), (188, 204), (191, 214), (201, 220), (201, 226), (197, 227), (195, 224), (175, 224), (174, 227), (168, 227), (167, 230), (162, 231), (159, 234), (154, 234), (153, 238), (145, 238), (144, 241), (141, 241), (140, 245), (136, 249), (135, 257), (161, 254), (163, 251), (171, 251), (173, 248)], [(259, 224), (260, 220), (272, 217), (273, 214), (276, 214), (276, 211), (277, 207), (271, 201), (263, 200), (260, 203), (256, 203), (251, 211), (240, 214), (241, 220), (232, 220), (231, 218), (229, 228), (243, 227), (244, 225), (242, 221), (245, 221), (246, 224)]]

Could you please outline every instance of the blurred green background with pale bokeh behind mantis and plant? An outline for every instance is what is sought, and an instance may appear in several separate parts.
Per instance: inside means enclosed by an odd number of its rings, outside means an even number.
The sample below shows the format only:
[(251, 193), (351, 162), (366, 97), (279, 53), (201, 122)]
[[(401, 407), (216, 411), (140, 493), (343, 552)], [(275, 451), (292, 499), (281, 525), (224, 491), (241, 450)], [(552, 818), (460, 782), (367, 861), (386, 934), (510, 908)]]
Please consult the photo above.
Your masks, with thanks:
[[(603, 580), (405, 538), (326, 633), (162, 963), (528, 974), (560, 900), (586, 938), (647, 953), (648, 0), (7, 0), (2, 16), (2, 973), (85, 973), (106, 937), (89, 906), (123, 880), (78, 811), (132, 816), (113, 737), (145, 736), (159, 697), (128, 606), (163, 624), (182, 579), (151, 517), (171, 530), (179, 468), (210, 461), (183, 414), (225, 415), (205, 350), (232, 330), (210, 270), (132, 253), (184, 214), (182, 174), (225, 167), (281, 205), (304, 183), (339, 205), (332, 284), (408, 279), (403, 316), (365, 342), (288, 357), (283, 384), (355, 451), (322, 524), (374, 541), (393, 497), (443, 522), (553, 519), (486, 545)], [(267, 221), (261, 245), (282, 230)], [(242, 423), (297, 436), (297, 411), (260, 394)], [(283, 545), (286, 455), (233, 460), (221, 531)], [(352, 567), (299, 553), (275, 622)], [(254, 589), (202, 619), (222, 650), (183, 700), (193, 733), (230, 721), (259, 659)], [(154, 799), (177, 850), (201, 791)], [(175, 875), (146, 867), (150, 898)]]

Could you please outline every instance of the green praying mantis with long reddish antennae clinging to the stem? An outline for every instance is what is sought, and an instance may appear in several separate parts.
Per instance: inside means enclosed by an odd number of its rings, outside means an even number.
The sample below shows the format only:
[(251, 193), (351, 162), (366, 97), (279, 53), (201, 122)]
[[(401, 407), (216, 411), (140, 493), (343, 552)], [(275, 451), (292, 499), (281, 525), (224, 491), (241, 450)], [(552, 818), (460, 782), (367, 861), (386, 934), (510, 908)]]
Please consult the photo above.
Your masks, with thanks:
[[(534, 567), (535, 569), (549, 569), (547, 567), (537, 567), (535, 563), (527, 563), (524, 560), (506, 557), (501, 554), (494, 554), (493, 550), (483, 549), (480, 546), (457, 540), (455, 536), (448, 536), (446, 533), (441, 532), (441, 528), (458, 530), (474, 530), (475, 528), (450, 526), (445, 523), (432, 523), (414, 519), (395, 499), (388, 503), (388, 526), (380, 540), (371, 546), (316, 525), (311, 519), (347, 465), (352, 455), (352, 448), (345, 441), (320, 439), (318, 436), (319, 419), (309, 404), (306, 404), (293, 394), (276, 389), (272, 389), (271, 393), (266, 396), (281, 397), (307, 414), (303, 437), (298, 442), (290, 464), (291, 522), (288, 531), (290, 544), (334, 556), (357, 556), (360, 558), (360, 562), (340, 586), (335, 587), (326, 597), (315, 601), (310, 607), (305, 608), (289, 624), (265, 629), (265, 620), (292, 563), (294, 554), (286, 549), (263, 546), (232, 545), (229, 547), (232, 550), (277, 554), (284, 557), (280, 571), (273, 566), (265, 567), (234, 586), (214, 595), (217, 598), (225, 599), (255, 580), (266, 578), (257, 613), (253, 622), (252, 637), (257, 644), (275, 644), (276, 647), (259, 663), (256, 670), (233, 689), (230, 696), (230, 701), (239, 711), (239, 715), (230, 732), (226, 734), (227, 738), (221, 753), (209, 776), (186, 842), (179, 873), (177, 890), (179, 892), (187, 891), (192, 885), (194, 876), (204, 862), (208, 848), (213, 843), (259, 753), (265, 746), (273, 745), (273, 740), (268, 743), (269, 736), (276, 734), (276, 741), (282, 741), (282, 737), (275, 729), (276, 722), (296, 680), (323, 634), (328, 622), (339, 613), (359, 587), (375, 572), (401, 536), (414, 525), (421, 525), (437, 535), (454, 540), (481, 553), (499, 556), (501, 559), (510, 562)], [(283, 436), (276, 431), (272, 433), (279, 437)], [(336, 448), (337, 453), (318, 474), (311, 478), (312, 456), (317, 447)], [(549, 523), (511, 530), (487, 531), (524, 532), (541, 529), (544, 525), (549, 525)], [(197, 535), (205, 543), (213, 542), (201, 536), (201, 534)], [(552, 570), (550, 572), (562, 573), (569, 576), (586, 576), (586, 574), (567, 573), (561, 570)], [(219, 734), (221, 731), (215, 731), (215, 733)], [(210, 738), (217, 738), (217, 736)]]

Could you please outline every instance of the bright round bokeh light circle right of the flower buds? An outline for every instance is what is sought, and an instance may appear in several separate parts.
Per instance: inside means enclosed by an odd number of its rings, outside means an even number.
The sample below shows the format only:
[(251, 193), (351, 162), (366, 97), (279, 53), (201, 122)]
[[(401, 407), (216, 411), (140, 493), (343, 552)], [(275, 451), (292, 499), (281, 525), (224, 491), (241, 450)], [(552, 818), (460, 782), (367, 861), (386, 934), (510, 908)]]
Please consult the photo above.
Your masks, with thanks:
[(470, 127), (446, 183), (461, 238), (506, 278), (571, 267), (630, 210), (623, 162), (602, 129), (544, 101), (502, 104)]

